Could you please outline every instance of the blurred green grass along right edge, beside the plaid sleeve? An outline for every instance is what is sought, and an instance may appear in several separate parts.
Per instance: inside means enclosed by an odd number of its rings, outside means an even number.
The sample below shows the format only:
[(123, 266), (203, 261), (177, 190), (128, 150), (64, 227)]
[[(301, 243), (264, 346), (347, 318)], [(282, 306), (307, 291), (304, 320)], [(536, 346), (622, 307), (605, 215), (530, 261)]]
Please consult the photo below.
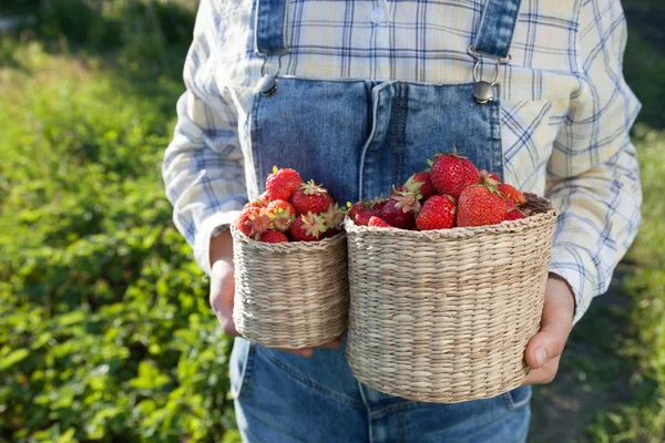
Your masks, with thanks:
[(665, 441), (665, 132), (640, 125), (635, 135), (644, 189), (643, 224), (628, 254), (633, 265), (623, 284), (634, 305), (630, 318), (634, 337), (624, 349), (636, 364), (633, 400), (597, 415), (590, 429), (596, 442)]

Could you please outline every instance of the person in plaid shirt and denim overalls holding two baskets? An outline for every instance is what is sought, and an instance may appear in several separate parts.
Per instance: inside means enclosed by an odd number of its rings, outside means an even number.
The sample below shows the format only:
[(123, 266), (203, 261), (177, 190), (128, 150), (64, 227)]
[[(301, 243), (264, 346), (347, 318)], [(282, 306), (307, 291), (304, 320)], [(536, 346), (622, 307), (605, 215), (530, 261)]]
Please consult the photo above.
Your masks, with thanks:
[(286, 352), (236, 338), (245, 441), (525, 441), (530, 385), (553, 380), (638, 227), (625, 43), (618, 0), (202, 0), (163, 177), (226, 333), (237, 336), (227, 227), (274, 165), (355, 202), (456, 145), (560, 208), (523, 387), (420, 403), (359, 383), (344, 340)]

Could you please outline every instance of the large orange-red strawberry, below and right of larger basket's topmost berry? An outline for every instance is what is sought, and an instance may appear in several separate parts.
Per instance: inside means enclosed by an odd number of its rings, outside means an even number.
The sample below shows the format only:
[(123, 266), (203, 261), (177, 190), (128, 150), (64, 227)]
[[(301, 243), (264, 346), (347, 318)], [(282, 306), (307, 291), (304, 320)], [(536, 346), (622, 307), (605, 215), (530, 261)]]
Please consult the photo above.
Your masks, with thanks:
[(458, 200), (457, 226), (495, 225), (505, 218), (505, 203), (487, 185), (472, 185)]

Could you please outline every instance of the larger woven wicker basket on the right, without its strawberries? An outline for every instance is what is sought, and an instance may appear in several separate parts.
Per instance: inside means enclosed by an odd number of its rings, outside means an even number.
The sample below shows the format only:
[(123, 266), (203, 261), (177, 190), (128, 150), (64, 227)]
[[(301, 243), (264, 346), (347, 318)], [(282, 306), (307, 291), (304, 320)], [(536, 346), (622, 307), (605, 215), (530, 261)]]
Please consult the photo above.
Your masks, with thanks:
[(351, 303), (347, 359), (361, 382), (436, 403), (491, 398), (529, 373), (556, 210), (431, 231), (356, 226), (347, 218)]

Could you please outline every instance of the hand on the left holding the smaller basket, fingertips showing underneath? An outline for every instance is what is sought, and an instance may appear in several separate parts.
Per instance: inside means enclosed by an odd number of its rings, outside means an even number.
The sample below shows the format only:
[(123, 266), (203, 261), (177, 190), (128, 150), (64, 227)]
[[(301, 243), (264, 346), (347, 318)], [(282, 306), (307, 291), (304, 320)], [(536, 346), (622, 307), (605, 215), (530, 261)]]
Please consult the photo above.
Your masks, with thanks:
[[(211, 241), (211, 307), (217, 316), (224, 333), (239, 337), (233, 322), (233, 301), (235, 297), (235, 279), (233, 267), (233, 239), (229, 231), (224, 231)], [(337, 349), (341, 338), (332, 340), (319, 348)], [(301, 357), (311, 357), (314, 348), (283, 349), (283, 351)]]

